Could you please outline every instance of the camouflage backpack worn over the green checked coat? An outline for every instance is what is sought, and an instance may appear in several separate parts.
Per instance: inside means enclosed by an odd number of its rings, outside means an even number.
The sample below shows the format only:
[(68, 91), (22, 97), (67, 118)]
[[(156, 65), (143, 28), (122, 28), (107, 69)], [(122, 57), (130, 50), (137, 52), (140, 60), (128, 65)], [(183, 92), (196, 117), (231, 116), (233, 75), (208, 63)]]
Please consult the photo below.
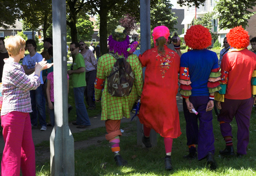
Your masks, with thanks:
[(107, 77), (107, 89), (111, 96), (125, 97), (132, 92), (134, 74), (132, 67), (125, 58), (120, 58), (117, 54), (109, 52), (116, 62), (110, 75)]

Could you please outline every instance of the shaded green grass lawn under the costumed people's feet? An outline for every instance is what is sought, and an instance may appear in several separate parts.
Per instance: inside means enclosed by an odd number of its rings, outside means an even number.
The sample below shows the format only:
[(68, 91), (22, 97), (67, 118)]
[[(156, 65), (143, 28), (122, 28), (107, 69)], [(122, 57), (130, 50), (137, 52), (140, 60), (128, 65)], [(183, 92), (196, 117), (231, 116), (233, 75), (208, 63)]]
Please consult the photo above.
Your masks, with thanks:
[[(252, 110), (251, 127), (250, 127), (250, 143), (248, 145), (247, 155), (242, 159), (235, 157), (222, 158), (219, 150), (225, 148), (225, 141), (220, 132), (219, 123), (213, 113), (213, 131), (215, 135), (215, 159), (218, 168), (215, 171), (210, 170), (203, 161), (188, 161), (183, 159), (183, 155), (188, 153), (185, 136), (185, 120), (184, 115), (180, 113), (181, 136), (173, 140), (172, 147), (172, 165), (174, 170), (171, 172), (164, 170), (165, 149), (163, 138), (158, 135), (158, 146), (151, 149), (142, 149), (137, 146), (136, 122), (128, 122), (121, 124), (124, 130), (121, 136), (120, 154), (128, 161), (127, 167), (119, 168), (115, 165), (114, 154), (111, 152), (110, 146), (106, 140), (99, 142), (97, 145), (90, 146), (86, 149), (75, 151), (75, 175), (77, 176), (253, 176), (256, 175), (256, 110)], [(233, 143), (236, 150), (236, 132), (237, 126), (235, 119), (232, 122)], [(105, 135), (106, 132), (102, 127), (92, 129), (93, 133), (88, 134), (93, 137), (96, 135)], [(85, 131), (88, 133), (88, 130)], [(78, 135), (78, 136), (76, 136)], [(74, 138), (80, 138), (80, 134), (75, 134)], [(50, 163), (47, 162), (43, 166), (37, 165), (37, 176), (50, 175)]]

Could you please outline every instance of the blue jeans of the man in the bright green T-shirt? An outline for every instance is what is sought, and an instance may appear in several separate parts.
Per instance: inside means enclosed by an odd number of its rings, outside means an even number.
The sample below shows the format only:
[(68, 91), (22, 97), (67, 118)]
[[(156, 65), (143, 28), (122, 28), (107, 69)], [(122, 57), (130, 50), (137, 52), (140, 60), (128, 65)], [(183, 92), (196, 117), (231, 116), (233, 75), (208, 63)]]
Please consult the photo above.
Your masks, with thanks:
[(85, 104), (84, 104), (84, 87), (73, 88), (75, 108), (76, 108), (76, 123), (78, 125), (91, 125)]

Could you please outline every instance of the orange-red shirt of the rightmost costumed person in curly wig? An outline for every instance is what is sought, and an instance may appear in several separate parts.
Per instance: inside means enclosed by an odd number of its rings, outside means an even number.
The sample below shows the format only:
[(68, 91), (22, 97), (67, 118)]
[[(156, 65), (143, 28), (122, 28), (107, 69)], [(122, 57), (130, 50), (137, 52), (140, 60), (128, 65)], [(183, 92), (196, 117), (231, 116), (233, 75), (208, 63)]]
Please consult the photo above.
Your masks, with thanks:
[(230, 50), (223, 56), (221, 69), (229, 72), (225, 98), (245, 100), (252, 96), (251, 79), (256, 70), (256, 54), (247, 48)]

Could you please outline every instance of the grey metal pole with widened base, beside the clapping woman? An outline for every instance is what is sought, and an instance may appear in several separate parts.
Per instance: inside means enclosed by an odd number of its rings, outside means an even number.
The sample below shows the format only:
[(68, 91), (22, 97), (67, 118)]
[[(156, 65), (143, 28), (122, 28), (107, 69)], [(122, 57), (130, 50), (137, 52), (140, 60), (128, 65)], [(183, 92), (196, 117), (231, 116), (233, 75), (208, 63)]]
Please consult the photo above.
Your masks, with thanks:
[(66, 0), (52, 0), (52, 5), (55, 125), (50, 137), (51, 175), (74, 176), (74, 138), (68, 126)]

